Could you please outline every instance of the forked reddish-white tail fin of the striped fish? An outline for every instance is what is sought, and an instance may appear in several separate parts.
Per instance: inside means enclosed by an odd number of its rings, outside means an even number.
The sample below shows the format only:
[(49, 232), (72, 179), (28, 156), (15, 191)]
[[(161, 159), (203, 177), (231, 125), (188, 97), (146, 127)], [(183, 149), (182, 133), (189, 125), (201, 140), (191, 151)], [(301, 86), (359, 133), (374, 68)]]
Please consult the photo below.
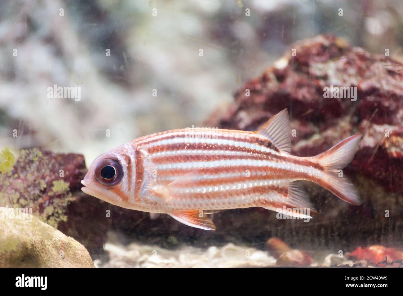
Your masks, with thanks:
[(318, 184), (353, 205), (361, 204), (357, 189), (339, 170), (353, 160), (361, 137), (360, 134), (348, 137), (315, 157), (325, 168), (324, 178)]

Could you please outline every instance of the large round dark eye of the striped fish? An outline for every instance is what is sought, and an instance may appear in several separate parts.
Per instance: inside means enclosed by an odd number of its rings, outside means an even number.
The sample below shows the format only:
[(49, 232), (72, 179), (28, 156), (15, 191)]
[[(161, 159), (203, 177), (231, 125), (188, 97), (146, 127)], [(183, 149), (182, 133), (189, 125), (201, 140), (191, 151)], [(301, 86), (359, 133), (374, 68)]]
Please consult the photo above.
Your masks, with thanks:
[(95, 178), (107, 186), (116, 185), (123, 177), (122, 166), (117, 159), (102, 159), (95, 169)]

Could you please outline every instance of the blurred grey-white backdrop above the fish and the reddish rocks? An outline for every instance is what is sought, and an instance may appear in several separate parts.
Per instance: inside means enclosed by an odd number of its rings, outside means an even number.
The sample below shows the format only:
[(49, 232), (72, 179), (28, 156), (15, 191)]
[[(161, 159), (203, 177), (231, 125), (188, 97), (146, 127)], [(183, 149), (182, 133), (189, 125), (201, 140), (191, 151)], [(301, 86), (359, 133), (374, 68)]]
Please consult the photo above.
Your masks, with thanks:
[[(0, 144), (83, 153), (89, 166), (201, 124), (294, 41), (331, 33), (399, 60), (402, 18), (399, 0), (3, 0)], [(48, 98), (54, 85), (80, 87), (80, 101)]]

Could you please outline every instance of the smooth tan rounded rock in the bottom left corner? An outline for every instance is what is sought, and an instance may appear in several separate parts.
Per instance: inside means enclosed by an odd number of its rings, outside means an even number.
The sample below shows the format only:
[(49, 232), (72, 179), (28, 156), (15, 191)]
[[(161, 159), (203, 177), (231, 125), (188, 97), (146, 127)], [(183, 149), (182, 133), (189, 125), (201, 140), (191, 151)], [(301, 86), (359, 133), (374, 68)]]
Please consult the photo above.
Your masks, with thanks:
[(29, 213), (11, 217), (14, 211), (0, 207), (0, 267), (94, 267), (82, 244)]

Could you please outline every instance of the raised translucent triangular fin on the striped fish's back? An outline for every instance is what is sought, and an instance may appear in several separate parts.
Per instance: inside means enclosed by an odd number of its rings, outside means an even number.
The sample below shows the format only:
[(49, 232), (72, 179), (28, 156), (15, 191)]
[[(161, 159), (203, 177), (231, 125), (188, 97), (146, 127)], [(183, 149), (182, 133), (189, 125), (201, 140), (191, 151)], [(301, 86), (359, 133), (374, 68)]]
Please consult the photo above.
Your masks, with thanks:
[(291, 130), (288, 110), (278, 112), (260, 130), (258, 134), (266, 137), (282, 152), (291, 152)]

